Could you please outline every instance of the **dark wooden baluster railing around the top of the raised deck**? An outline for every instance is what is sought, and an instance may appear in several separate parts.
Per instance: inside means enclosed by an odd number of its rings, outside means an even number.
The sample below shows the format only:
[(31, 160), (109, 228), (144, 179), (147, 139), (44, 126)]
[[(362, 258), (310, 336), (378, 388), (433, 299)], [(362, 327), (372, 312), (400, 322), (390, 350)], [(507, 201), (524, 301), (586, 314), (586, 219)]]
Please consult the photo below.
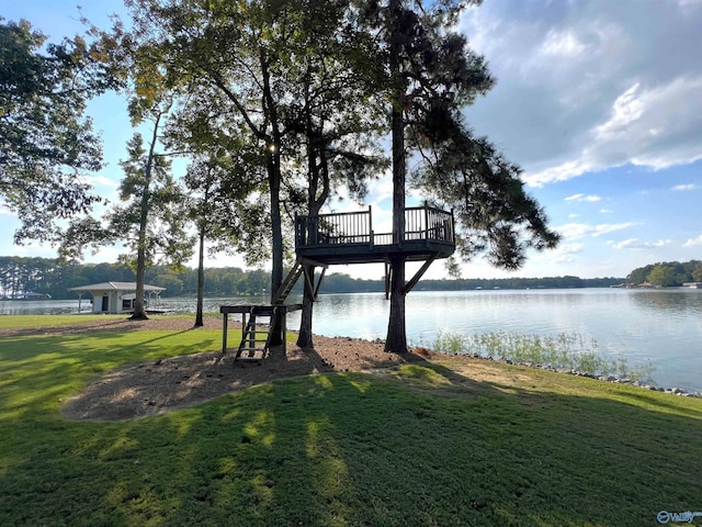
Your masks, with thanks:
[(455, 244), (453, 212), (429, 205), (405, 209), (405, 235), (400, 244), (393, 233), (373, 231), (372, 209), (314, 216), (296, 216), (296, 247), (332, 247), (342, 245), (401, 245), (418, 240)]

